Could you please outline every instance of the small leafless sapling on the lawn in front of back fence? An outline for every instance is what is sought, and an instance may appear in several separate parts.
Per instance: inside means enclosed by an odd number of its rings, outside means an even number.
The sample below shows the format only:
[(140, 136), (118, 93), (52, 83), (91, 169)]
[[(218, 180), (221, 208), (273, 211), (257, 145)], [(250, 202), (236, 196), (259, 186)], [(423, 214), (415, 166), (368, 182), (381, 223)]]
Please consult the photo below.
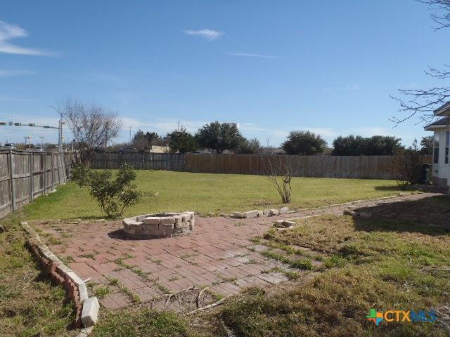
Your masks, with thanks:
[(290, 203), (290, 193), (292, 187), (290, 182), (293, 178), (294, 170), (290, 158), (280, 156), (274, 152), (262, 154), (265, 175), (274, 185), (278, 194), (280, 194), (283, 204)]

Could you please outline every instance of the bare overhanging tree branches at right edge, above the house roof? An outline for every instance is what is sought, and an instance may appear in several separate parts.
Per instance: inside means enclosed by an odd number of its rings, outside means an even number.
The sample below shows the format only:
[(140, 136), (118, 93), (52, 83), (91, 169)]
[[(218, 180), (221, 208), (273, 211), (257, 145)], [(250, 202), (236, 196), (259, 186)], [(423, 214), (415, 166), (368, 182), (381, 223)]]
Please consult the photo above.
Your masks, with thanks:
[[(450, 27), (450, 0), (418, 0), (423, 4), (428, 4), (434, 11), (431, 14), (432, 20), (437, 27), (435, 31)], [(450, 65), (444, 65), (442, 69), (428, 67), (425, 74), (436, 79), (446, 80), (450, 78)], [(433, 112), (437, 107), (444, 105), (450, 100), (450, 86), (435, 86), (427, 89), (399, 89), (402, 98), (392, 97), (400, 104), (399, 112), (406, 115), (401, 118), (392, 117), (396, 124), (418, 117), (419, 123), (431, 123), (435, 116)]]

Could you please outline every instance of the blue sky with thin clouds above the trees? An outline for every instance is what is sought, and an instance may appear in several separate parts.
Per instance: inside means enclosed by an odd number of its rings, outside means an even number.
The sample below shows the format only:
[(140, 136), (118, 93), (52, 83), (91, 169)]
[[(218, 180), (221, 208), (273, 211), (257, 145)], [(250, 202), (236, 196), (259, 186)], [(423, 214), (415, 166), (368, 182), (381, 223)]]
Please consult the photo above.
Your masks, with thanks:
[[(292, 130), (409, 145), (428, 133), (393, 128), (390, 95), (439, 84), (423, 71), (449, 62), (429, 15), (413, 0), (2, 0), (0, 121), (57, 125), (49, 105), (75, 96), (120, 115), (116, 142), (219, 120), (264, 145)], [(1, 143), (29, 134), (57, 139), (0, 126)]]

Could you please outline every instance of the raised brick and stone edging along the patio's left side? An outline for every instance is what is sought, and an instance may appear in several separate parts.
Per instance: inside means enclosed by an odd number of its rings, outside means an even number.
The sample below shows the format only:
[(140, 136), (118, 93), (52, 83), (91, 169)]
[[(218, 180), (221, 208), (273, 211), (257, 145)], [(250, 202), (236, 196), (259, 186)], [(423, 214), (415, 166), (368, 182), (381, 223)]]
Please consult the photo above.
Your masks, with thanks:
[(20, 224), (29, 235), (27, 238), (28, 249), (51, 279), (64, 286), (65, 293), (75, 303), (77, 310), (75, 327), (82, 328), (84, 326), (85, 329), (82, 333), (89, 334), (90, 329), (97, 321), (98, 299), (95, 296), (89, 297), (86, 283), (41, 242), (39, 234), (26, 221), (21, 221)]

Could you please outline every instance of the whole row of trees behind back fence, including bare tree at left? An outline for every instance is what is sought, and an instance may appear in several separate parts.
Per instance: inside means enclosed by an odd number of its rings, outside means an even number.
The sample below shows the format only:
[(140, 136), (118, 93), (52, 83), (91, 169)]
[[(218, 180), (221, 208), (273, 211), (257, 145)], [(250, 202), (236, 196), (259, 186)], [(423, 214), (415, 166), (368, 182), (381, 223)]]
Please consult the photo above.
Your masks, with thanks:
[[(233, 123), (213, 121), (205, 124), (197, 133), (191, 134), (186, 128), (167, 133), (161, 137), (155, 132), (134, 134), (131, 144), (116, 144), (108, 147), (108, 140), (117, 137), (121, 121), (117, 114), (101, 105), (83, 103), (68, 98), (58, 105), (60, 112), (74, 136), (75, 149), (82, 154), (82, 161), (89, 161), (91, 154), (97, 149), (120, 150), (121, 147), (133, 146), (139, 151), (150, 150), (155, 145), (167, 146), (170, 152), (186, 153), (203, 149), (211, 149), (221, 154), (225, 150), (238, 154), (257, 154), (263, 148), (256, 138), (247, 139)], [(336, 156), (392, 155), (404, 146), (401, 139), (394, 136), (339, 136), (333, 141), (333, 148), (327, 146), (326, 140), (310, 131), (291, 131), (282, 144), (286, 154), (332, 154)], [(432, 136), (420, 140), (420, 154), (432, 154)], [(269, 151), (270, 152), (270, 151)]]

